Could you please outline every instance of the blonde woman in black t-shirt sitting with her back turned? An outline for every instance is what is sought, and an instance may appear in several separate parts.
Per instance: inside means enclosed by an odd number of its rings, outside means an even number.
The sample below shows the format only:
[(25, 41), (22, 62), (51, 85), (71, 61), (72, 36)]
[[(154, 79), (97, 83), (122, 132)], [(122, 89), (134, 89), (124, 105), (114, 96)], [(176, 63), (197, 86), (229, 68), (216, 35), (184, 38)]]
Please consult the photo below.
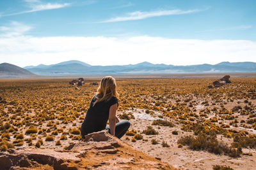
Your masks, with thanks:
[[(130, 122), (124, 120), (119, 122), (116, 117), (118, 106), (118, 93), (116, 91), (116, 81), (112, 76), (106, 76), (100, 81), (100, 86), (92, 98), (87, 110), (86, 117), (81, 125), (82, 138), (86, 134), (107, 129), (110, 134), (117, 138), (122, 138), (130, 127)], [(106, 128), (109, 120), (109, 127)]]

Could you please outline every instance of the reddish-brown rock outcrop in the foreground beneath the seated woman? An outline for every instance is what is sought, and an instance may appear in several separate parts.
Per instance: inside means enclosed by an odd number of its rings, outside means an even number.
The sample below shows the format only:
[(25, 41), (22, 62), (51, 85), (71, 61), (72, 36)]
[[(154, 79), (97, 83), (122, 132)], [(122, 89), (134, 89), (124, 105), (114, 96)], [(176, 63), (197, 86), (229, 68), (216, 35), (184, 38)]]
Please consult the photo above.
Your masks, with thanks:
[(0, 153), (1, 169), (175, 169), (108, 132), (88, 134), (64, 150), (26, 148)]

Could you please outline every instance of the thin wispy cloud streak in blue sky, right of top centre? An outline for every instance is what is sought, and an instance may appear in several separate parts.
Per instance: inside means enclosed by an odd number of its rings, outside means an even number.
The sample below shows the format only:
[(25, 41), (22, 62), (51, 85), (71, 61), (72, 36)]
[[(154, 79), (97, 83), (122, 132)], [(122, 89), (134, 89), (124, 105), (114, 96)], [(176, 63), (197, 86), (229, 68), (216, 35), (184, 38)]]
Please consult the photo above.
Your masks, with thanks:
[[(207, 9), (205, 9), (207, 10)], [(127, 20), (142, 20), (145, 18), (151, 18), (151, 17), (160, 17), (164, 15), (182, 15), (182, 14), (188, 14), (188, 13), (196, 13), (199, 11), (205, 11), (205, 10), (158, 10), (158, 11), (134, 11), (132, 13), (127, 13), (124, 17), (115, 17), (110, 18), (108, 20), (104, 20), (101, 23), (105, 22), (121, 22), (121, 21), (127, 21)]]

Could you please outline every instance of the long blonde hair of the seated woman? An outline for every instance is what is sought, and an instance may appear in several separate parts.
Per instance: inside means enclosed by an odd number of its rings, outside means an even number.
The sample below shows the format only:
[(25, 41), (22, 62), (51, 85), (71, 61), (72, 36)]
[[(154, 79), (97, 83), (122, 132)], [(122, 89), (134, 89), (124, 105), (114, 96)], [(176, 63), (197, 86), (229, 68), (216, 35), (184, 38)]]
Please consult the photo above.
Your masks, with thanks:
[(109, 101), (111, 97), (118, 97), (119, 94), (116, 91), (116, 80), (112, 76), (105, 76), (100, 81), (100, 86), (97, 90), (96, 101), (93, 106), (100, 101)]

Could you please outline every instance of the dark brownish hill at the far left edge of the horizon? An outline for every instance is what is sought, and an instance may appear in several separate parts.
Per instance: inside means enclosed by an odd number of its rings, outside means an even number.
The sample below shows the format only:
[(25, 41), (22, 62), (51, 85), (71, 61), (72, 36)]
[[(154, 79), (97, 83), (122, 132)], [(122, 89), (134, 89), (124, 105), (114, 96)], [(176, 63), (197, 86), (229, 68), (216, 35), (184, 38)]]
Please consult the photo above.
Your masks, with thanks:
[(0, 78), (19, 78), (19, 77), (33, 77), (33, 74), (22, 67), (15, 66), (9, 63), (0, 64)]

